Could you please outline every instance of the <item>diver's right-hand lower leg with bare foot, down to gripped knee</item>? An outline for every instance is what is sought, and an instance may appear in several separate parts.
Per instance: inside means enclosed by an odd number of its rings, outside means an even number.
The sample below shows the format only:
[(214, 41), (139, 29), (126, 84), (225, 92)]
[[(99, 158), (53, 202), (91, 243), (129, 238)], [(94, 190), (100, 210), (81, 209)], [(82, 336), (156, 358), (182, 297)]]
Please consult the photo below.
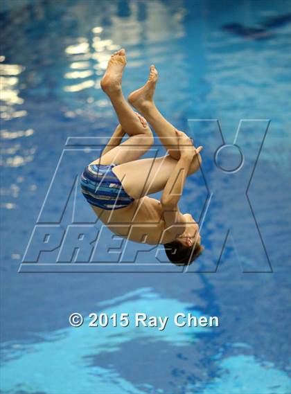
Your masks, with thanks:
[[(180, 154), (178, 150), (178, 140), (175, 133), (175, 127), (171, 125), (168, 120), (157, 109), (154, 102), (155, 87), (158, 79), (158, 73), (155, 66), (150, 66), (150, 77), (141, 89), (138, 89), (130, 94), (128, 101), (135, 107), (152, 125), (152, 128), (159, 136), (161, 143), (168, 150), (168, 154), (173, 159), (179, 160)], [(197, 163), (201, 163), (200, 156), (195, 156), (191, 169), (197, 170)], [(198, 166), (199, 168), (199, 166)]]

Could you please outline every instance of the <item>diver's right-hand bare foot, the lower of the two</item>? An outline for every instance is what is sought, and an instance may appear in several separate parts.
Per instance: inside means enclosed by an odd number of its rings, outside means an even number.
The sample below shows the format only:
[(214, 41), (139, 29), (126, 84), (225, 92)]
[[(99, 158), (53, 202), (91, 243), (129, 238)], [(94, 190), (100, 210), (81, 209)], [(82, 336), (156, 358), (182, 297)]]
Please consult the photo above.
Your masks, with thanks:
[(141, 111), (142, 109), (152, 105), (154, 102), (154, 94), (158, 75), (159, 74), (155, 66), (152, 64), (152, 66), (150, 66), (150, 76), (148, 78), (148, 82), (146, 82), (146, 84), (140, 89), (130, 93), (130, 96), (128, 96), (127, 100), (134, 108)]

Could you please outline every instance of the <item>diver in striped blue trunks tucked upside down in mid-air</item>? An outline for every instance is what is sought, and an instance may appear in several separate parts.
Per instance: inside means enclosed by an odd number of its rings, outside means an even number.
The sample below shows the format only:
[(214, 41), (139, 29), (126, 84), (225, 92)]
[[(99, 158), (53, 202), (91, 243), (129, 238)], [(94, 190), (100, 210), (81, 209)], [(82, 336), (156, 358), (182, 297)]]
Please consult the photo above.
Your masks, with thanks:
[[(200, 168), (202, 146), (196, 148), (157, 109), (154, 65), (145, 85), (125, 100), (125, 65), (121, 49), (110, 58), (100, 82), (119, 124), (101, 156), (82, 172), (82, 193), (110, 231), (134, 242), (163, 244), (170, 262), (188, 265), (203, 247), (197, 222), (190, 213), (182, 213), (178, 203), (186, 178)], [(166, 147), (166, 156), (140, 159), (154, 141), (148, 123)], [(129, 138), (121, 143), (125, 134)], [(161, 190), (161, 201), (149, 197)]]

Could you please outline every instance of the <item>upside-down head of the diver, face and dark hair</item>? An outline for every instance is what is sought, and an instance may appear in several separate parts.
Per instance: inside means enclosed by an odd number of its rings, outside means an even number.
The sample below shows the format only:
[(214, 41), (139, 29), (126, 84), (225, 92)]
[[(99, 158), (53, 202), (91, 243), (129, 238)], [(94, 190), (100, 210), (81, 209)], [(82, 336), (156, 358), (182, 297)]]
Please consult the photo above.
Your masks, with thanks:
[(204, 247), (201, 245), (199, 226), (193, 217), (186, 213), (186, 229), (177, 238), (164, 244), (166, 255), (175, 265), (191, 265), (200, 256)]

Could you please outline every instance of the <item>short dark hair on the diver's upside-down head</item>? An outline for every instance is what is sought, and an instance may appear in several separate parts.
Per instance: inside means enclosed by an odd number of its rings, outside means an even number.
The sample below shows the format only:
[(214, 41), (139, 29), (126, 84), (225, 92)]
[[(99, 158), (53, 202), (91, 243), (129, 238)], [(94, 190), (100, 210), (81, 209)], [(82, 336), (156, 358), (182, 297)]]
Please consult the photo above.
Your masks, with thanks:
[(164, 248), (168, 259), (175, 265), (191, 265), (204, 249), (200, 244), (195, 244), (193, 247), (186, 247), (179, 241), (164, 244)]

